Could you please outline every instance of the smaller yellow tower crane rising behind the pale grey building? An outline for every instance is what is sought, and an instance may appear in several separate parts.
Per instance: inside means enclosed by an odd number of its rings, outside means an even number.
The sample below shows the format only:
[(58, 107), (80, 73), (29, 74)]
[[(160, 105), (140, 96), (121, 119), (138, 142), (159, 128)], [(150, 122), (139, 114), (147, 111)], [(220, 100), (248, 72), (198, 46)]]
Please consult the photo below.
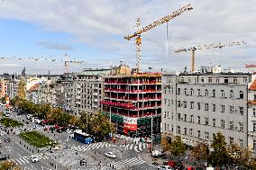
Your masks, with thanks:
[(191, 47), (187, 49), (178, 49), (175, 52), (186, 52), (191, 51), (191, 72), (195, 73), (196, 67), (195, 67), (195, 51), (201, 50), (201, 49), (222, 49), (224, 47), (233, 47), (233, 46), (240, 46), (245, 45), (246, 43), (244, 41), (240, 42), (231, 42), (231, 43), (217, 43), (217, 44), (208, 44), (208, 45), (198, 45), (196, 47)]

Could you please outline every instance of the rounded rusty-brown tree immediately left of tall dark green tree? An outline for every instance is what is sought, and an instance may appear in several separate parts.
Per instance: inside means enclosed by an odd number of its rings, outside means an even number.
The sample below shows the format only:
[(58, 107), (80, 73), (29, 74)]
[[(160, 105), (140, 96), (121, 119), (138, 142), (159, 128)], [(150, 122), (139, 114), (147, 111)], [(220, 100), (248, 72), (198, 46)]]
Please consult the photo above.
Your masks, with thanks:
[(198, 142), (197, 145), (191, 149), (191, 156), (198, 161), (207, 161), (209, 158), (209, 152), (208, 145)]

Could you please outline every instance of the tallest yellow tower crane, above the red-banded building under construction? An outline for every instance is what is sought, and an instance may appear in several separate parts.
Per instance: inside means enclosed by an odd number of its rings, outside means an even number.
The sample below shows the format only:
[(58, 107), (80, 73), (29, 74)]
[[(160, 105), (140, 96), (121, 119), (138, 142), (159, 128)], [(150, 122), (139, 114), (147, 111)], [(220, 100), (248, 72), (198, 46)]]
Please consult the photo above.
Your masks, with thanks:
[(144, 28), (141, 29), (141, 22), (140, 22), (140, 18), (137, 19), (136, 23), (135, 23), (135, 27), (136, 27), (136, 31), (134, 33), (128, 34), (126, 36), (124, 36), (124, 39), (126, 40), (131, 40), (133, 39), (133, 37), (135, 37), (135, 45), (136, 45), (136, 68), (137, 68), (137, 72), (140, 73), (141, 72), (141, 62), (142, 62), (142, 33), (145, 31), (149, 31), (152, 28), (155, 28), (156, 26), (165, 23), (165, 22), (169, 22), (169, 20), (177, 17), (178, 15), (180, 15), (181, 13), (187, 12), (192, 10), (193, 7), (191, 6), (191, 4), (187, 4), (186, 6), (178, 9), (177, 11), (161, 18), (158, 21), (152, 22), (151, 24), (145, 26)]

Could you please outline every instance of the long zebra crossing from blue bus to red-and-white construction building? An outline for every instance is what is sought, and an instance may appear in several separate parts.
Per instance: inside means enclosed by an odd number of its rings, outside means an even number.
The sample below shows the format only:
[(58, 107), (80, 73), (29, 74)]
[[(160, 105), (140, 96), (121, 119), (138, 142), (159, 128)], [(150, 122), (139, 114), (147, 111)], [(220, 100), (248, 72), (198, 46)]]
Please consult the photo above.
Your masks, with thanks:
[(134, 150), (136, 152), (142, 152), (143, 149), (147, 148), (146, 143), (139, 142), (138, 144), (122, 144), (122, 145), (114, 145), (107, 142), (98, 142), (98, 143), (92, 143), (89, 145), (80, 145), (80, 146), (72, 146), (72, 149), (78, 150), (78, 151), (88, 151), (93, 150), (96, 148), (112, 148), (114, 146), (118, 146), (120, 148), (130, 149)]

